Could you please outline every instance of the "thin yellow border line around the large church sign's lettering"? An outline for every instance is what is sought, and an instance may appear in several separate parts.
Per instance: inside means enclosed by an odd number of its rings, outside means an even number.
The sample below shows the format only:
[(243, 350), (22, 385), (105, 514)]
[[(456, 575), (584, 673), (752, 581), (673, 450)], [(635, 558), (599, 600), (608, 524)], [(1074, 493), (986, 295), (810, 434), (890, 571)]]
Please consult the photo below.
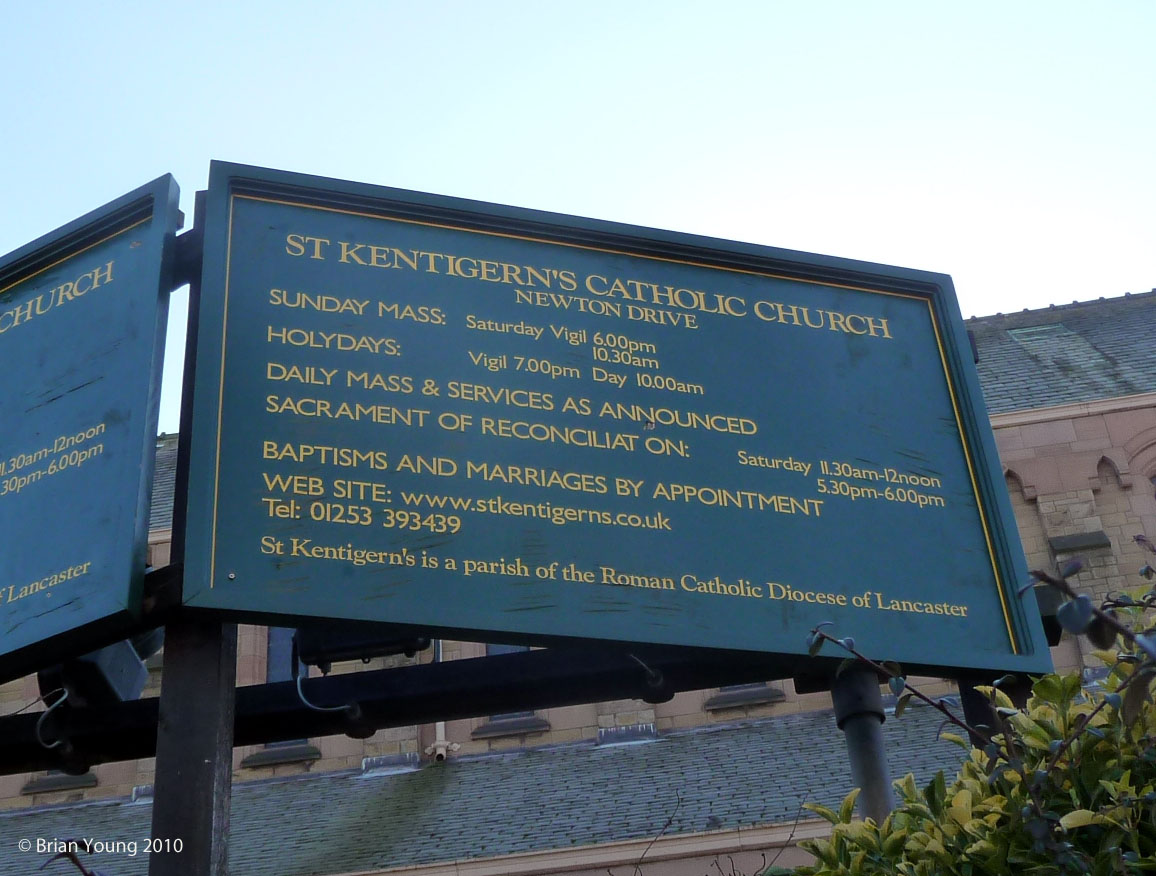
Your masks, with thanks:
[(554, 245), (554, 246), (565, 246), (565, 247), (570, 247), (570, 248), (573, 248), (573, 250), (581, 250), (584, 252), (603, 252), (603, 253), (609, 253), (609, 254), (613, 254), (613, 255), (628, 255), (628, 257), (635, 258), (635, 259), (647, 259), (650, 261), (666, 262), (666, 263), (672, 263), (672, 265), (687, 265), (689, 267), (706, 268), (706, 269), (710, 269), (710, 270), (725, 270), (725, 272), (731, 273), (731, 274), (746, 274), (748, 276), (758, 276), (758, 277), (766, 277), (766, 279), (773, 279), (773, 280), (786, 280), (786, 281), (796, 282), (796, 283), (809, 283), (812, 285), (822, 285), (822, 287), (825, 287), (828, 289), (850, 289), (852, 291), (870, 292), (873, 295), (890, 295), (890, 296), (896, 297), (896, 298), (910, 298), (910, 299), (913, 299), (913, 300), (921, 300), (921, 302), (924, 302), (927, 305), (927, 312), (928, 312), (928, 315), (931, 317), (931, 322), (932, 322), (932, 331), (935, 334), (935, 346), (939, 348), (939, 351), (940, 351), (940, 364), (943, 366), (943, 377), (944, 377), (944, 380), (947, 383), (948, 395), (951, 399), (951, 410), (955, 414), (956, 430), (958, 432), (959, 444), (962, 445), (962, 448), (963, 448), (964, 460), (968, 463), (968, 475), (971, 478), (971, 489), (972, 489), (972, 493), (973, 493), (973, 496), (976, 498), (976, 510), (979, 512), (979, 522), (980, 522), (980, 527), (984, 530), (984, 541), (987, 544), (987, 557), (988, 557), (988, 561), (992, 564), (992, 572), (993, 572), (993, 574), (995, 577), (995, 589), (996, 589), (996, 593), (998, 593), (998, 595), (1000, 597), (1000, 607), (1003, 610), (1003, 623), (1007, 626), (1008, 639), (1010, 640), (1010, 644), (1011, 644), (1011, 653), (1016, 654), (1016, 655), (1018, 655), (1021, 653), (1020, 645), (1018, 645), (1018, 641), (1017, 641), (1016, 636), (1015, 636), (1015, 629), (1014, 629), (1014, 625), (1011, 623), (1011, 615), (1010, 615), (1010, 611), (1008, 609), (1007, 596), (1003, 593), (1005, 588), (1003, 588), (1003, 581), (1000, 578), (1000, 573), (999, 573), (999, 563), (995, 559), (995, 548), (994, 548), (994, 545), (992, 543), (991, 527), (990, 527), (988, 521), (987, 521), (987, 514), (984, 513), (984, 503), (983, 503), (983, 499), (981, 499), (980, 493), (979, 493), (979, 484), (976, 481), (976, 467), (975, 467), (975, 462), (972, 460), (971, 446), (968, 443), (966, 430), (963, 428), (963, 417), (962, 417), (961, 410), (959, 410), (959, 401), (956, 398), (955, 387), (951, 385), (951, 370), (948, 366), (947, 351), (943, 349), (943, 340), (942, 340), (941, 334), (940, 334), (939, 321), (938, 321), (938, 319), (935, 317), (935, 309), (932, 306), (931, 299), (927, 298), (926, 296), (913, 295), (913, 294), (909, 294), (909, 292), (895, 292), (895, 291), (890, 291), (890, 290), (887, 290), (887, 289), (872, 289), (870, 287), (865, 287), (865, 285), (849, 285), (849, 284), (845, 284), (845, 283), (824, 282), (822, 280), (808, 280), (808, 279), (802, 279), (802, 277), (793, 277), (793, 276), (787, 276), (785, 274), (773, 274), (773, 273), (770, 273), (770, 272), (751, 270), (749, 268), (721, 267), (721, 266), (718, 266), (718, 265), (706, 265), (706, 263), (703, 263), (701, 261), (689, 261), (689, 260), (686, 260), (686, 259), (674, 259), (674, 258), (664, 257), (664, 255), (650, 255), (650, 254), (646, 254), (646, 253), (632, 252), (630, 250), (612, 250), (612, 248), (608, 248), (608, 247), (588, 246), (588, 245), (584, 245), (584, 244), (570, 243), (570, 242), (566, 242), (566, 240), (550, 240), (550, 239), (546, 239), (546, 238), (541, 238), (541, 237), (529, 237), (529, 236), (526, 236), (526, 235), (514, 235), (514, 233), (511, 233), (511, 232), (507, 232), (507, 231), (488, 231), (488, 230), (484, 230), (484, 229), (462, 228), (460, 225), (450, 225), (450, 224), (444, 224), (444, 223), (440, 223), (440, 222), (428, 222), (428, 221), (422, 221), (422, 220), (410, 220), (410, 218), (403, 218), (403, 217), (400, 217), (400, 216), (384, 216), (384, 215), (381, 215), (379, 213), (363, 213), (361, 210), (342, 209), (342, 208), (339, 208), (339, 207), (325, 207), (325, 206), (321, 206), (321, 205), (313, 205), (313, 203), (302, 203), (299, 201), (286, 201), (286, 200), (281, 200), (281, 199), (276, 199), (276, 198), (261, 198), (261, 196), (251, 195), (251, 194), (235, 194), (235, 193), (231, 193), (230, 196), (229, 196), (229, 231), (228, 231), (227, 248), (225, 248), (224, 319), (222, 320), (222, 326), (221, 326), (221, 386), (220, 386), (220, 389), (218, 389), (218, 393), (217, 393), (216, 473), (214, 475), (214, 484), (213, 484), (213, 533), (212, 533), (213, 547), (212, 547), (210, 562), (209, 562), (209, 587), (210, 588), (215, 584), (215, 573), (214, 573), (214, 570), (215, 570), (215, 566), (216, 566), (216, 514), (217, 514), (217, 490), (220, 488), (220, 480), (221, 480), (221, 430), (222, 430), (222, 420), (221, 420), (221, 417), (222, 417), (222, 408), (223, 408), (223, 404), (224, 404), (224, 352), (225, 352), (225, 350), (224, 350), (224, 347), (225, 347), (224, 339), (225, 339), (227, 325), (228, 325), (228, 321), (229, 321), (229, 268), (230, 268), (230, 257), (231, 257), (231, 252), (232, 252), (232, 211), (234, 211), (234, 202), (238, 198), (239, 199), (244, 199), (244, 200), (249, 200), (249, 201), (258, 201), (260, 203), (276, 203), (276, 205), (281, 205), (281, 206), (284, 206), (284, 207), (298, 207), (298, 208), (302, 208), (302, 209), (320, 210), (323, 213), (336, 213), (336, 214), (342, 215), (342, 216), (361, 216), (363, 218), (372, 218), (372, 220), (379, 220), (379, 221), (385, 221), (385, 222), (401, 222), (401, 223), (405, 223), (405, 224), (408, 224), (408, 225), (422, 225), (423, 228), (439, 228), (439, 229), (444, 229), (444, 230), (447, 230), (447, 231), (459, 231), (459, 232), (464, 232), (464, 233), (483, 235), (483, 236), (487, 236), (487, 237), (504, 237), (504, 238), (512, 239), (512, 240), (526, 240), (526, 242), (536, 243), (536, 244), (546, 244), (546, 245)]

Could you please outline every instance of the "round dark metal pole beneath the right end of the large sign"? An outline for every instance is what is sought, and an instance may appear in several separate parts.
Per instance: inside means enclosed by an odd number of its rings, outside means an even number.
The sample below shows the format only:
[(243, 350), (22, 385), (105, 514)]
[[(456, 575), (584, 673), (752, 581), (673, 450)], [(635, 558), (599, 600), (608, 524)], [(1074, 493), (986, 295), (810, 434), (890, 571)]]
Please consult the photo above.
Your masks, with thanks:
[(850, 667), (835, 680), (831, 698), (835, 721), (847, 741), (851, 779), (860, 789), (859, 815), (882, 824), (895, 808), (895, 799), (883, 748), (879, 676), (869, 667)]

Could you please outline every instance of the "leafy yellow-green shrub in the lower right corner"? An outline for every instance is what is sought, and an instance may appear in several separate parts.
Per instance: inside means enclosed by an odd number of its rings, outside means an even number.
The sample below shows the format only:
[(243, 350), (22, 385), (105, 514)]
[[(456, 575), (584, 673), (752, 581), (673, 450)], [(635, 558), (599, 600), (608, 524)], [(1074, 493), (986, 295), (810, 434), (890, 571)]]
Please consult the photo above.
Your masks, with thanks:
[(815, 863), (798, 876), (1156, 871), (1156, 592), (1096, 609), (1064, 579), (1036, 574), (1072, 597), (1060, 615), (1067, 629), (1109, 645), (1095, 652), (1109, 667), (1102, 689), (1046, 675), (1021, 710), (998, 686), (980, 688), (998, 726), (981, 748), (942, 734), (968, 751), (955, 780), (897, 781), (897, 807), (881, 825), (853, 819), (858, 792), (838, 812), (806, 804), (832, 829), (800, 844)]

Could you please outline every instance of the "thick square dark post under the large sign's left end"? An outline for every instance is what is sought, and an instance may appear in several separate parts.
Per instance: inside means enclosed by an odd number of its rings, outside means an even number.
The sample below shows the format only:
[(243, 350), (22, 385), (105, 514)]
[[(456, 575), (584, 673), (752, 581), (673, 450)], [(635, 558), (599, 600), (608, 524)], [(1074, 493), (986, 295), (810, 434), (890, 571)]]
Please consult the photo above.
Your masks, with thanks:
[(149, 876), (227, 876), (236, 674), (236, 624), (165, 628)]

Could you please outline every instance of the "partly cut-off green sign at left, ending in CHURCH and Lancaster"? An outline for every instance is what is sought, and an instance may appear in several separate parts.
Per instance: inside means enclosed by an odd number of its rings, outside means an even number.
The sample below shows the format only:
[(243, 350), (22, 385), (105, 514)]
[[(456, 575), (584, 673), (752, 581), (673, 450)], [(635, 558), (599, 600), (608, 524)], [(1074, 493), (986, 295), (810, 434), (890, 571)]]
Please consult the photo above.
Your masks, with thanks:
[(165, 176), (0, 258), (0, 677), (140, 610), (177, 202)]

